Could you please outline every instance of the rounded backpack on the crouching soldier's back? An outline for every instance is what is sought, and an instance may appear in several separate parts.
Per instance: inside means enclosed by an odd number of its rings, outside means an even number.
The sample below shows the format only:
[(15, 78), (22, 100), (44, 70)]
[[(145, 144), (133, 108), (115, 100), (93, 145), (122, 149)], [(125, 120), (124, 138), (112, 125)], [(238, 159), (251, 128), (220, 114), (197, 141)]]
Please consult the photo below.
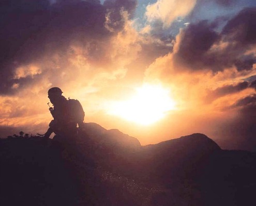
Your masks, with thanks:
[(68, 98), (68, 105), (69, 105), (69, 111), (70, 111), (70, 118), (72, 119), (72, 121), (76, 123), (83, 122), (84, 110), (79, 100)]

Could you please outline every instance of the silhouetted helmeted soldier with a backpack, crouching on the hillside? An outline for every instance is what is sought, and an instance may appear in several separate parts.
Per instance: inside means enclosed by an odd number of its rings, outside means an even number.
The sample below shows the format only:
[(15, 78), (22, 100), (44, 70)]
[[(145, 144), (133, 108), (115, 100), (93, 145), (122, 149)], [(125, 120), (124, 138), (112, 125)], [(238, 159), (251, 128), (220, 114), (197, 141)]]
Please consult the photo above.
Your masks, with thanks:
[(61, 137), (76, 135), (77, 125), (83, 127), (84, 111), (80, 102), (76, 99), (66, 99), (62, 93), (57, 87), (48, 91), (48, 98), (54, 106), (49, 108), (53, 120), (44, 138), (49, 138), (53, 132), (55, 136)]

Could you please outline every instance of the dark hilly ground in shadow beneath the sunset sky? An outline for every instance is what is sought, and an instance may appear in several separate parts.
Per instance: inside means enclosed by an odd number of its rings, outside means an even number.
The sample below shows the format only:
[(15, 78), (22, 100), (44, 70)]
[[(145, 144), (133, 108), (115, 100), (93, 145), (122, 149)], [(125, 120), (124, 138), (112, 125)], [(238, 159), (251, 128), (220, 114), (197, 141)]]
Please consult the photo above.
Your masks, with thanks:
[(0, 139), (0, 205), (256, 205), (256, 155), (204, 134), (155, 145), (85, 124), (61, 140)]

